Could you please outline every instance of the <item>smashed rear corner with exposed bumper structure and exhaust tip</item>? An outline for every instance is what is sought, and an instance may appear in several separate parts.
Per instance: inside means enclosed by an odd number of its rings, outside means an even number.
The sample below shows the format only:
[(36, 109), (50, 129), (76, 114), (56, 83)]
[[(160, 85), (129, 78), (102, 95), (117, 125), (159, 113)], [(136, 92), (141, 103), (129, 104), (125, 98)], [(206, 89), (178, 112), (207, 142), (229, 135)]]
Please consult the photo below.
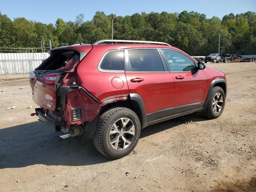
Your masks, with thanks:
[(38, 116), (54, 132), (64, 132), (59, 135), (61, 138), (79, 136), (85, 126), (85, 138), (92, 138), (95, 125), (91, 122), (102, 108), (102, 103), (96, 97), (81, 86), (60, 86), (57, 106), (58, 109), (54, 111), (44, 107), (36, 108), (31, 116)]

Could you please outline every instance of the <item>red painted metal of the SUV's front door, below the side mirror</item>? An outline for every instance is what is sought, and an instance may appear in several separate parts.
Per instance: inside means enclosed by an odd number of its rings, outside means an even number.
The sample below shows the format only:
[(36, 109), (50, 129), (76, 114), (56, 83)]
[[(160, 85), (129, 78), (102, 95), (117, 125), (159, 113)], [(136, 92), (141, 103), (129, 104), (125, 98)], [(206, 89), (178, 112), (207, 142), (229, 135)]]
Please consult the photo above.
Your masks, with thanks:
[[(171, 74), (175, 81), (175, 106), (205, 101), (207, 80), (203, 70), (171, 72)], [(176, 79), (177, 76), (184, 78)]]

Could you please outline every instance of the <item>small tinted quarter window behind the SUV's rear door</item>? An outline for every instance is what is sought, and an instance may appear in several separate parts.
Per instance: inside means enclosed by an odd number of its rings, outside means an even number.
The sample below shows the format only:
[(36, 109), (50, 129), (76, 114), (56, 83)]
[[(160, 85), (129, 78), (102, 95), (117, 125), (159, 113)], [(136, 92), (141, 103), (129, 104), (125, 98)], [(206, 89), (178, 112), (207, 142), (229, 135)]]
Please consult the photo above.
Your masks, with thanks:
[(124, 50), (108, 52), (104, 56), (100, 64), (100, 68), (103, 70), (123, 71), (124, 70)]

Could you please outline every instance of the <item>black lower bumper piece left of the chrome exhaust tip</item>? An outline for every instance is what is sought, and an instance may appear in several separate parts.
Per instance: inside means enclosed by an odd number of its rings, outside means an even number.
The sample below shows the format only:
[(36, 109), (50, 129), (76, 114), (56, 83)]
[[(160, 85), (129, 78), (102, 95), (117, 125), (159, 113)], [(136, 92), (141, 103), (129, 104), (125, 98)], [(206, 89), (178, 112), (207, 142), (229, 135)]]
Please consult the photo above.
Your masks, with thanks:
[(54, 122), (54, 120), (45, 116), (42, 108), (36, 108), (35, 110), (39, 120), (46, 123), (47, 126), (49, 126), (52, 130), (54, 130), (54, 132), (60, 131), (61, 128), (65, 125), (64, 121)]

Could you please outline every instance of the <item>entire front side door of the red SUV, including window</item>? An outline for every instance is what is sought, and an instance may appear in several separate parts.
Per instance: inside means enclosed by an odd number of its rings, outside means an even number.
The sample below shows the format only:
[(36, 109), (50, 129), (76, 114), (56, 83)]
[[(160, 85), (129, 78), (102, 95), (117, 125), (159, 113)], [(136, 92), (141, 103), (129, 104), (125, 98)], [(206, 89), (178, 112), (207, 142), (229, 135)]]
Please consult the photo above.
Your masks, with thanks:
[(207, 94), (207, 78), (194, 60), (172, 49), (161, 49), (167, 67), (174, 78), (175, 113), (200, 108)]

